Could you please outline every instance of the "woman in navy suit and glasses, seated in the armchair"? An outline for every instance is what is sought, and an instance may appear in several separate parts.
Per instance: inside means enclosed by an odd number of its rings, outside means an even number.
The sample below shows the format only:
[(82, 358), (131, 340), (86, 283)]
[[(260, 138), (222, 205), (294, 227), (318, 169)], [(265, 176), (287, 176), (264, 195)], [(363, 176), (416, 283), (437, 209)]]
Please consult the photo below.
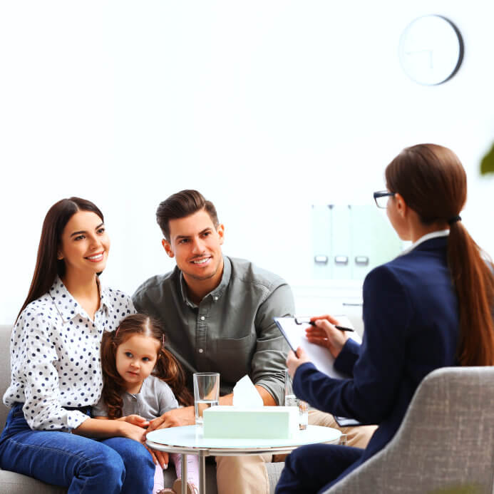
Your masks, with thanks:
[(349, 379), (331, 379), (302, 349), (289, 353), (294, 391), (319, 410), (378, 428), (367, 448), (314, 445), (286, 460), (276, 492), (323, 492), (391, 441), (422, 379), (443, 366), (494, 364), (492, 264), (468, 235), (460, 212), (466, 174), (440, 145), (404, 149), (375, 192), (391, 225), (413, 244), (364, 281), (362, 344), (314, 317), (307, 338), (325, 346)]

